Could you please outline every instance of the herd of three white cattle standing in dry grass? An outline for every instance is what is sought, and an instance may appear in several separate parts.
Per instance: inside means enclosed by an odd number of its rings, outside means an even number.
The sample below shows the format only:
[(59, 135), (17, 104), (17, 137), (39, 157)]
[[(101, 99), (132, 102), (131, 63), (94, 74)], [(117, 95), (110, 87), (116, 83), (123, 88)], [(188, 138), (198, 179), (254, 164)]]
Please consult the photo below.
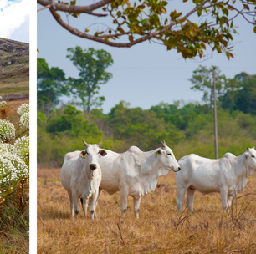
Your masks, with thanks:
[(155, 190), (161, 175), (171, 170), (176, 173), (177, 211), (187, 190), (187, 206), (193, 211), (195, 190), (203, 195), (220, 192), (223, 211), (228, 211), (234, 196), (245, 187), (248, 175), (256, 170), (254, 147), (238, 157), (227, 153), (223, 158), (211, 160), (198, 155), (187, 155), (178, 162), (165, 141), (161, 148), (148, 152), (131, 146), (125, 153), (89, 145), (84, 140), (85, 150), (74, 151), (64, 156), (60, 179), (69, 194), (71, 215), (79, 213), (79, 198), (87, 216), (89, 201), (90, 218), (96, 219), (96, 206), (102, 190), (110, 195), (120, 191), (121, 216), (125, 216), (128, 196), (133, 197), (135, 217), (139, 218), (141, 196)]

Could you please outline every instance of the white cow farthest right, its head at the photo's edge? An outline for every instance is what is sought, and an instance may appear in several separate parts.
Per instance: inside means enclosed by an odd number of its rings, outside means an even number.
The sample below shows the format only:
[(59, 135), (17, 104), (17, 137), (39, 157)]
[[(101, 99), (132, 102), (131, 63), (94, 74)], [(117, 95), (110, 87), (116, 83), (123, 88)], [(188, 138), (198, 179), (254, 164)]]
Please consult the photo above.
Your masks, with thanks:
[(228, 211), (234, 196), (245, 187), (248, 175), (256, 170), (256, 151), (247, 151), (238, 157), (227, 153), (223, 158), (211, 160), (198, 155), (187, 155), (178, 161), (182, 170), (176, 174), (177, 211), (182, 211), (182, 203), (187, 190), (187, 206), (193, 211), (195, 190), (203, 195), (220, 192), (223, 211)]

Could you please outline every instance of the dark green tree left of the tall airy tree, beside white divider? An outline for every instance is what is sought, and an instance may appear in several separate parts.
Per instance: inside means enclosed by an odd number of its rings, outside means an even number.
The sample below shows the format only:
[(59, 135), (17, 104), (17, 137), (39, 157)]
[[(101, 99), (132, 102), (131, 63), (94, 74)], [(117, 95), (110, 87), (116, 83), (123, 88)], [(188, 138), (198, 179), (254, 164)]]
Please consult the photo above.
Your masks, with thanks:
[(59, 96), (68, 94), (65, 74), (62, 69), (49, 69), (44, 58), (38, 58), (38, 109), (49, 115), (51, 109), (59, 104)]

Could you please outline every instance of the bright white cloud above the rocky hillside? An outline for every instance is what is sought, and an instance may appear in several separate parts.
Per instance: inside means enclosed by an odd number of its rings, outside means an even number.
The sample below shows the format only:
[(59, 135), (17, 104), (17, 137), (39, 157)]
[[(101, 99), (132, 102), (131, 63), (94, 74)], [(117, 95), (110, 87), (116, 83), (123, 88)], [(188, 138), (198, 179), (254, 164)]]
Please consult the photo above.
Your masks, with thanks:
[(0, 38), (12, 38), (12, 34), (28, 20), (28, 15), (29, 0), (0, 0)]

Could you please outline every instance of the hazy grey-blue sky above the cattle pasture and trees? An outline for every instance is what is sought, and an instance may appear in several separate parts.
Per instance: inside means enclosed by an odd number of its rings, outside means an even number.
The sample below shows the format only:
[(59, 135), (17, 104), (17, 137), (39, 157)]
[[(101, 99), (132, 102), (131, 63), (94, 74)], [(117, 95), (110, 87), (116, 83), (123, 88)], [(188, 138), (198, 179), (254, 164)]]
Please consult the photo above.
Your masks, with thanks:
[[(172, 6), (187, 13), (189, 6), (182, 1), (173, 0)], [(188, 2), (189, 3), (189, 2)], [(83, 1), (78, 4), (84, 4)], [(38, 8), (42, 6), (38, 5)], [(83, 30), (90, 23), (100, 23), (100, 18), (81, 15), (69, 22), (75, 28)], [(80, 46), (82, 48), (105, 49), (110, 52), (114, 64), (108, 69), (113, 78), (101, 86), (100, 96), (105, 96), (103, 110), (105, 113), (118, 104), (120, 100), (131, 103), (131, 107), (149, 109), (161, 101), (172, 104), (174, 100), (184, 99), (185, 102), (201, 101), (202, 92), (190, 89), (192, 84), (188, 81), (192, 72), (199, 64), (210, 67), (218, 66), (228, 78), (235, 74), (247, 72), (256, 74), (256, 34), (253, 26), (242, 17), (234, 21), (238, 26), (237, 35), (233, 36), (234, 59), (228, 60), (223, 54), (213, 53), (207, 61), (184, 60), (175, 50), (166, 51), (166, 48), (156, 43), (141, 43), (132, 48), (111, 48), (83, 38), (78, 38), (61, 28), (54, 20), (48, 9), (38, 12), (38, 58), (45, 58), (49, 67), (59, 67), (64, 70), (66, 77), (78, 78), (78, 71), (66, 58), (67, 48)], [(209, 52), (207, 52), (209, 53)], [(64, 98), (67, 103), (68, 98)]]

